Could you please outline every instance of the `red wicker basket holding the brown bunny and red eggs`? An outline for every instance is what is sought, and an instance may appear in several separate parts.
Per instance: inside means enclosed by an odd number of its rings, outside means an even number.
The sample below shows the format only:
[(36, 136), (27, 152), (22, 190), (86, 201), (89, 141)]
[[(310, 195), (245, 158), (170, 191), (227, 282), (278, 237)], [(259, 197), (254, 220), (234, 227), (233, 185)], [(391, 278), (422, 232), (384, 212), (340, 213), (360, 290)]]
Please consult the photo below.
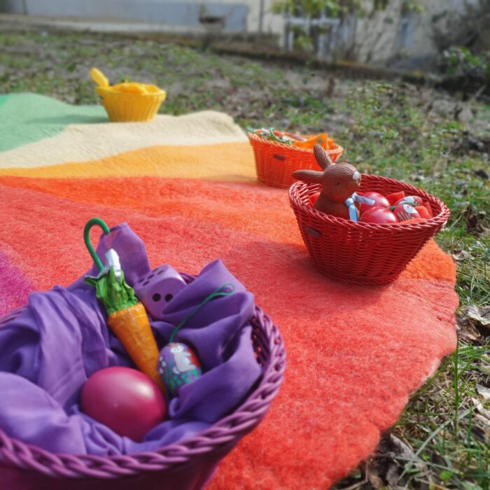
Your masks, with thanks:
[(314, 265), (326, 276), (356, 284), (384, 284), (394, 281), (426, 242), (449, 219), (444, 203), (406, 183), (363, 174), (360, 192), (383, 195), (405, 191), (430, 203), (433, 218), (419, 223), (378, 225), (360, 223), (320, 213), (309, 197), (318, 184), (297, 182), (289, 190), (304, 244)]

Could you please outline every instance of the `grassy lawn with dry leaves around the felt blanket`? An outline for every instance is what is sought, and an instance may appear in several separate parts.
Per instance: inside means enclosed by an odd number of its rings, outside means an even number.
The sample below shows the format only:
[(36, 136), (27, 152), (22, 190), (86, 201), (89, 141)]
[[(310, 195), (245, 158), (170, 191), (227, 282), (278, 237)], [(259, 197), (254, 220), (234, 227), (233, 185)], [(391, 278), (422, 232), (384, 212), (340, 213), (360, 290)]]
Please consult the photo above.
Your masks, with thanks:
[[(468, 126), (431, 109), (434, 100), (457, 100), (426, 88), (342, 80), (309, 66), (153, 41), (10, 32), (0, 34), (0, 45), (0, 93), (32, 91), (94, 104), (88, 71), (98, 66), (112, 81), (129, 77), (167, 88), (165, 113), (217, 109), (241, 127), (332, 132), (363, 172), (413, 183), (448, 204), (451, 220), (437, 241), (448, 253), (470, 254), (458, 261), (461, 307), (490, 303), (489, 181), (475, 172), (489, 172), (489, 155), (471, 144), (490, 137), (472, 133), (475, 121)], [(475, 127), (488, 125), (490, 106), (472, 102), (472, 109)], [(489, 331), (480, 328), (476, 339), (460, 339), (458, 350), (412, 396), (392, 430), (412, 456), (388, 457), (380, 449), (338, 489), (379, 488), (369, 468), (389, 486), (394, 481), (389, 465), (396, 468), (396, 484), (407, 488), (489, 489), (490, 420), (484, 409), (490, 407), (488, 402), (479, 407), (477, 393), (477, 384), (490, 384)]]

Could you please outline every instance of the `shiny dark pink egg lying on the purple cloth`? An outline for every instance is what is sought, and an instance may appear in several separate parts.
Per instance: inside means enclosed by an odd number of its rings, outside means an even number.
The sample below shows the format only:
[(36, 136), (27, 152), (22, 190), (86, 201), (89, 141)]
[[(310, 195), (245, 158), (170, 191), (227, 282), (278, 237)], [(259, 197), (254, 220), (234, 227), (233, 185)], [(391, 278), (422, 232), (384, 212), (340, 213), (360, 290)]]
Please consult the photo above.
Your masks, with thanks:
[(106, 367), (92, 374), (83, 385), (80, 406), (92, 419), (138, 442), (167, 415), (158, 384), (129, 367)]

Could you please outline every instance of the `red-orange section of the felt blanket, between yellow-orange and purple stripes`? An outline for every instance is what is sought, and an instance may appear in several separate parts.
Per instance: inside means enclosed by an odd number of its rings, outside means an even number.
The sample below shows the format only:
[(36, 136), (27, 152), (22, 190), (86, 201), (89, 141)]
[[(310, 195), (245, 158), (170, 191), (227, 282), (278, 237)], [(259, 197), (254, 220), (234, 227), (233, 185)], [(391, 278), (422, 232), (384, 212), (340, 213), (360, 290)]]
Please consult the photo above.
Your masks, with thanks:
[(212, 490), (327, 488), (374, 450), (456, 345), (454, 263), (434, 241), (388, 286), (335, 283), (311, 265), (285, 190), (157, 176), (3, 176), (0, 195), (0, 248), (36, 289), (67, 285), (90, 267), (82, 231), (100, 216), (130, 223), (153, 266), (196, 273), (222, 258), (279, 325), (283, 387)]

